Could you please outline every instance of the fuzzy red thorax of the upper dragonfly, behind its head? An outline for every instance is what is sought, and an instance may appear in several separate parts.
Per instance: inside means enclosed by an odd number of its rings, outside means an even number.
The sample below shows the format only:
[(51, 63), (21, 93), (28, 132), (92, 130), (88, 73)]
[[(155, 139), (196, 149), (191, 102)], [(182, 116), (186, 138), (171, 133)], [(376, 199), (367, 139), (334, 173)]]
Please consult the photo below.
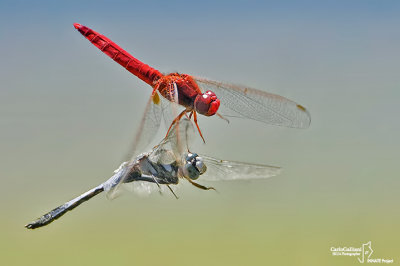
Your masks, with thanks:
[(169, 101), (174, 102), (178, 93), (178, 103), (188, 110), (194, 108), (194, 100), (201, 90), (193, 78), (187, 74), (170, 73), (159, 78), (154, 87)]

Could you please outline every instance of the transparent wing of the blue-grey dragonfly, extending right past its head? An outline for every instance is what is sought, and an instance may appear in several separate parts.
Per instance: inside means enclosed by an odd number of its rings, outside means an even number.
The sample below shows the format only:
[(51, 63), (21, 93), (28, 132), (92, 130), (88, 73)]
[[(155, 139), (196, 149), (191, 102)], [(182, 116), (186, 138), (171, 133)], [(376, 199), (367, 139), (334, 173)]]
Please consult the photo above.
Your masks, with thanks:
[(264, 179), (279, 175), (281, 172), (281, 168), (276, 166), (219, 160), (204, 155), (201, 157), (207, 166), (207, 171), (199, 178), (201, 180)]

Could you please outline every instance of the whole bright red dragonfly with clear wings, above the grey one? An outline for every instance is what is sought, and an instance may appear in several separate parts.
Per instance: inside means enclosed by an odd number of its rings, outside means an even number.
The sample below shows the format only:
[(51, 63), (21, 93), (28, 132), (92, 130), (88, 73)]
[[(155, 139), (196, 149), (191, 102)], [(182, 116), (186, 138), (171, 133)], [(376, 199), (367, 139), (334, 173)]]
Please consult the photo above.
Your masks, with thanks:
[[(217, 114), (224, 118), (221, 115), (223, 114), (295, 128), (306, 128), (310, 125), (311, 118), (306, 108), (287, 98), (188, 74), (162, 74), (130, 55), (106, 36), (78, 23), (75, 23), (74, 27), (103, 53), (153, 88), (145, 111), (149, 115), (144, 116), (147, 121), (142, 121), (142, 126), (145, 122), (147, 124), (150, 122), (153, 124), (153, 129), (158, 129), (160, 125), (161, 108), (157, 92), (168, 101), (185, 108), (173, 119), (168, 132), (175, 123), (187, 115), (189, 118), (193, 117), (203, 141), (204, 138), (197, 123), (197, 113), (205, 116)], [(149, 130), (144, 134), (140, 129), (139, 135), (141, 137), (144, 135), (145, 138), (151, 140), (157, 130), (152, 131)]]

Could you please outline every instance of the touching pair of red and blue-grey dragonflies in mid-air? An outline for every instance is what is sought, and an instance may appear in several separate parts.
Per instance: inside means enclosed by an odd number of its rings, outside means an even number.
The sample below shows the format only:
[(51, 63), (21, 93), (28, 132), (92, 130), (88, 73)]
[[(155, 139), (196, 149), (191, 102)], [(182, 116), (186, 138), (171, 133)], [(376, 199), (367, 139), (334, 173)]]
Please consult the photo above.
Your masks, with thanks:
[[(178, 184), (180, 179), (200, 189), (209, 190), (214, 188), (197, 183), (197, 179), (255, 179), (279, 174), (279, 167), (219, 160), (190, 152), (190, 142), (194, 136), (191, 119), (205, 142), (197, 114), (217, 115), (228, 122), (228, 117), (241, 117), (295, 128), (306, 128), (311, 122), (303, 106), (282, 96), (187, 74), (164, 75), (104, 35), (77, 23), (74, 26), (93, 45), (145, 81), (153, 90), (135, 136), (132, 158), (122, 163), (106, 182), (27, 224), (25, 227), (28, 229), (51, 223), (103, 191), (113, 198), (119, 194), (120, 187), (128, 183), (153, 186), (159, 191), (167, 187), (177, 197), (171, 186)], [(165, 138), (149, 152), (137, 155), (154, 138), (162, 117), (170, 125)]]

